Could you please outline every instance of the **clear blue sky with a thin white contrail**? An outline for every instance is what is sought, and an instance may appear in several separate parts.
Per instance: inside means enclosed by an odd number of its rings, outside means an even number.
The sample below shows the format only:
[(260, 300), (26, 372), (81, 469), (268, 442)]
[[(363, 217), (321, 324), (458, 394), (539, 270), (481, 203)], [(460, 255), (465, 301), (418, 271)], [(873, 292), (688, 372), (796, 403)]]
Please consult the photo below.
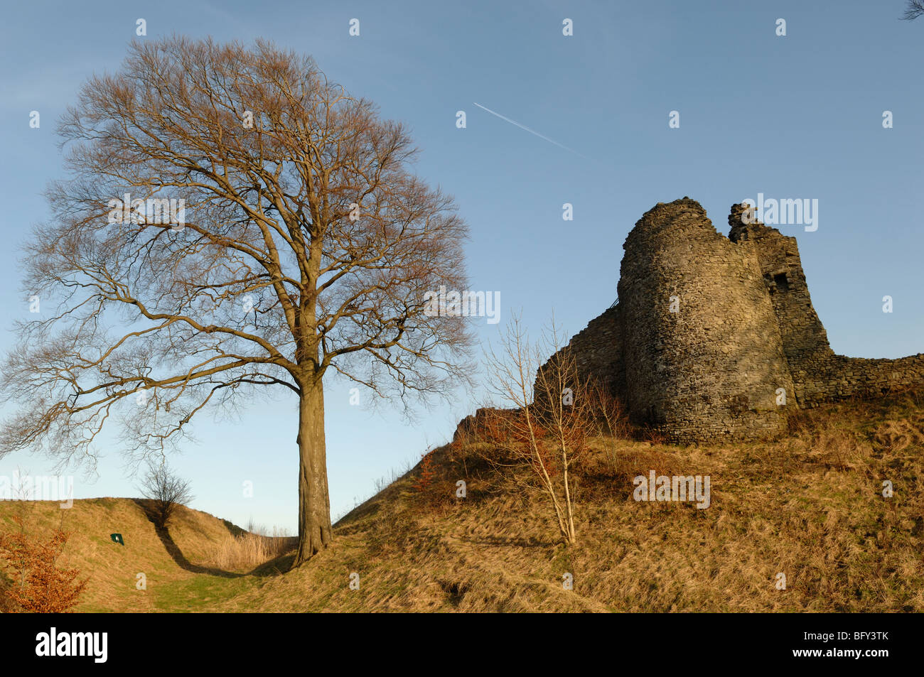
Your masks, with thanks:
[[(25, 317), (17, 247), (47, 216), (41, 192), (63, 175), (55, 122), (92, 73), (113, 71), (144, 18), (147, 38), (268, 38), (311, 54), (333, 79), (411, 128), (419, 175), (456, 197), (471, 228), (472, 288), (499, 291), (496, 336), (522, 309), (538, 332), (554, 311), (570, 333), (614, 300), (622, 243), (658, 201), (698, 199), (727, 233), (732, 202), (819, 200), (819, 228), (798, 238), (812, 299), (838, 353), (924, 350), (924, 18), (881, 2), (278, 3), (71, 2), (7, 6), (0, 28), (0, 326)], [(348, 34), (359, 18), (359, 36)], [(562, 34), (571, 18), (574, 34)], [(776, 19), (786, 35), (776, 35)], [(144, 40), (145, 38), (139, 38)], [(490, 115), (491, 109), (547, 140)], [(41, 127), (30, 128), (30, 111)], [(467, 127), (456, 128), (456, 111)], [(680, 127), (668, 127), (672, 110)], [(893, 128), (882, 127), (892, 111)], [(562, 205), (574, 207), (563, 221)], [(894, 312), (881, 311), (882, 296)], [(12, 343), (0, 332), (0, 350)], [(350, 406), (326, 385), (331, 503), (342, 514), (374, 480), (451, 438), (479, 405), (460, 398), (413, 423), (387, 406)], [(295, 529), (296, 403), (285, 393), (234, 421), (203, 418), (199, 443), (172, 464), (193, 507), (238, 524)], [(77, 498), (137, 495), (118, 449)], [(51, 473), (42, 456), (0, 459)], [(242, 483), (254, 483), (253, 498)]]

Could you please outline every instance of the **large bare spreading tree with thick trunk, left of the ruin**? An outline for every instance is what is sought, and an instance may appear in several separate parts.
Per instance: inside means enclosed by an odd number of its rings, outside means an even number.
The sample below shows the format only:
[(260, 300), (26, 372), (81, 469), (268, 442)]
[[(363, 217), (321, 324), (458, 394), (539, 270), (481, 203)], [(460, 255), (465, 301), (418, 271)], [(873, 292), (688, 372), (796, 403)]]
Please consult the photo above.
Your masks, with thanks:
[(298, 397), (305, 562), (331, 540), (324, 377), (407, 411), (468, 371), (468, 326), (426, 304), (466, 288), (453, 200), (413, 175), (402, 125), (268, 42), (136, 42), (60, 133), (72, 175), (27, 246), (42, 316), (3, 369), (21, 409), (0, 453), (92, 463), (120, 417), (138, 463), (202, 410), (280, 386)]

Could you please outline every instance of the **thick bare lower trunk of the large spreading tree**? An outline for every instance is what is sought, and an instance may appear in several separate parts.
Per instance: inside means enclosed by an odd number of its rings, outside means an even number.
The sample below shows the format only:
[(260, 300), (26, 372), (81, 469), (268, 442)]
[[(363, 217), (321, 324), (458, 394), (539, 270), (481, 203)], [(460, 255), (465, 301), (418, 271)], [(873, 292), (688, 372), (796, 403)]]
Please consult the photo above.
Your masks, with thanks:
[(331, 542), (331, 501), (324, 447), (324, 390), (311, 380), (298, 399), (298, 553), (293, 566), (307, 562)]

